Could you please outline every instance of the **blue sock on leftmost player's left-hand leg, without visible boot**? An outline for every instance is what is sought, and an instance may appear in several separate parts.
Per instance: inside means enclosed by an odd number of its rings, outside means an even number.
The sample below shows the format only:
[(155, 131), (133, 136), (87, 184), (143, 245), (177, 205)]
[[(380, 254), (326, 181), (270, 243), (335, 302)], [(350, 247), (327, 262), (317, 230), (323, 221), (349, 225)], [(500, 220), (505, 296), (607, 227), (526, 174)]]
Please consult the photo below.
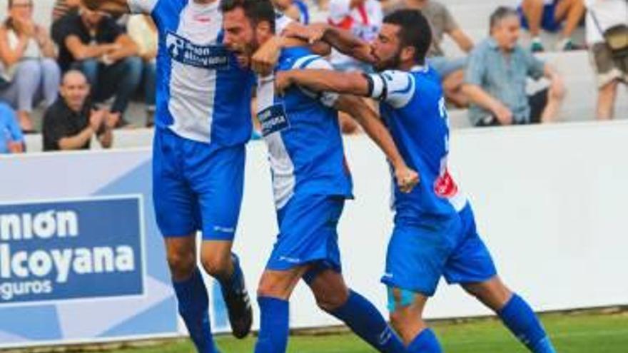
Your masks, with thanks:
[(179, 314), (186, 322), (190, 338), (199, 353), (218, 353), (211, 336), (209, 297), (201, 272), (194, 270), (188, 280), (172, 283), (177, 296)]

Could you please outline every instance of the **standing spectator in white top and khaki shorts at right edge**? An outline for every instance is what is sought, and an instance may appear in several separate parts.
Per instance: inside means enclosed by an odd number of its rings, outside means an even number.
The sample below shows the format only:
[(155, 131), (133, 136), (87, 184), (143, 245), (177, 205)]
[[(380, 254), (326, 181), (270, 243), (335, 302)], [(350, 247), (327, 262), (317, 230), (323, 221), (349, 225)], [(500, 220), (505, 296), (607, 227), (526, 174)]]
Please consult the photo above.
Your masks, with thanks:
[(587, 44), (597, 76), (597, 118), (609, 120), (614, 116), (617, 88), (628, 85), (628, 48), (623, 54), (614, 53), (604, 38), (604, 32), (624, 26), (628, 37), (628, 2), (626, 0), (587, 0)]

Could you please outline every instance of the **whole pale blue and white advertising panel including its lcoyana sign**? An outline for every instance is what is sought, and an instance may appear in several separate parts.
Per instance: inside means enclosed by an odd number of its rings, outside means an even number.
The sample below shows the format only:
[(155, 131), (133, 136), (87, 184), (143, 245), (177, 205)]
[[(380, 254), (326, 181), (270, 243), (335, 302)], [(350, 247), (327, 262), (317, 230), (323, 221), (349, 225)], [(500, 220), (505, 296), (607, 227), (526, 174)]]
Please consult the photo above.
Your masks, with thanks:
[(152, 203), (149, 150), (0, 158), (0, 348), (180, 335)]

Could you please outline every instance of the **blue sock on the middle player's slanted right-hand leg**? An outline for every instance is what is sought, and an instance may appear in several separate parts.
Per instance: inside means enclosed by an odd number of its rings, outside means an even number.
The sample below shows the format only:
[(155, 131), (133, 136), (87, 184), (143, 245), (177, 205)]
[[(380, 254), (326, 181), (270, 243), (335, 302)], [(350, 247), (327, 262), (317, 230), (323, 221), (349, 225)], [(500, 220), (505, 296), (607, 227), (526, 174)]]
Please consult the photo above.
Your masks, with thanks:
[(405, 353), (403, 343), (388, 326), (378, 309), (353, 290), (349, 292), (349, 299), (345, 305), (330, 314), (345, 322), (355, 334), (378, 352)]

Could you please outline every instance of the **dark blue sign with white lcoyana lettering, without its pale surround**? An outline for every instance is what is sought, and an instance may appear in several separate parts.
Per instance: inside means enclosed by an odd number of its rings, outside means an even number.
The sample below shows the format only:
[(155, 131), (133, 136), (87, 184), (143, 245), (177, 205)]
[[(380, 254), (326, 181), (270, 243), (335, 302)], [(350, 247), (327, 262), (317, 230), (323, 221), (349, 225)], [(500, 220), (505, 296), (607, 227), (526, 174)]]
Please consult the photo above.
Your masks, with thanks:
[(0, 306), (143, 295), (141, 195), (0, 204)]

